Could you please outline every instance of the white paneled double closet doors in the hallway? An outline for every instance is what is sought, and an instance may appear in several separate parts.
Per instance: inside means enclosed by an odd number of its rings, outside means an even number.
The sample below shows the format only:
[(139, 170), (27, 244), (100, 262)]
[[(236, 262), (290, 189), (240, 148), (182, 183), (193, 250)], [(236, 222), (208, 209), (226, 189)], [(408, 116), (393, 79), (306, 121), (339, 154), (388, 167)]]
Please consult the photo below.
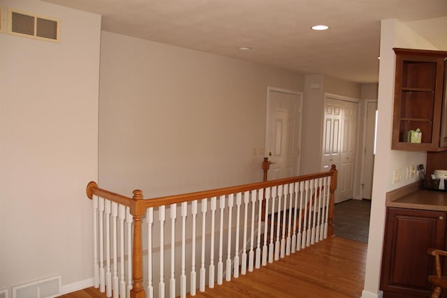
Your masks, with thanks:
[(325, 94), (321, 170), (338, 170), (335, 203), (353, 198), (356, 177), (358, 100)]

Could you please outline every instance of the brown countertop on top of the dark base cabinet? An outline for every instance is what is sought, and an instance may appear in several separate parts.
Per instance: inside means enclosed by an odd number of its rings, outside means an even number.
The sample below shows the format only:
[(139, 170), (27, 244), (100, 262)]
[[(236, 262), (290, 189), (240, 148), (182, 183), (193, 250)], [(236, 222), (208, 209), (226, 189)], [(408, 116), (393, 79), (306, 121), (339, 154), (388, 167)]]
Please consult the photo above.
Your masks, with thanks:
[(388, 192), (386, 207), (447, 211), (447, 191), (429, 191), (410, 184)]

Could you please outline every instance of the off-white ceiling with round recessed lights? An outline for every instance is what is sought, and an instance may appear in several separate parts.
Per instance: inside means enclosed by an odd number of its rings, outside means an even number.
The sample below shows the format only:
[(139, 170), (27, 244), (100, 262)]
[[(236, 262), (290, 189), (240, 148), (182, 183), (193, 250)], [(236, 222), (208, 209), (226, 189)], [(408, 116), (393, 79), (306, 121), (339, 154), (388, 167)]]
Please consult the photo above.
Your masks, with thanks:
[[(381, 20), (410, 22), (447, 50), (447, 0), (45, 1), (102, 15), (105, 31), (359, 83), (379, 81)], [(444, 26), (420, 22), (432, 18)]]

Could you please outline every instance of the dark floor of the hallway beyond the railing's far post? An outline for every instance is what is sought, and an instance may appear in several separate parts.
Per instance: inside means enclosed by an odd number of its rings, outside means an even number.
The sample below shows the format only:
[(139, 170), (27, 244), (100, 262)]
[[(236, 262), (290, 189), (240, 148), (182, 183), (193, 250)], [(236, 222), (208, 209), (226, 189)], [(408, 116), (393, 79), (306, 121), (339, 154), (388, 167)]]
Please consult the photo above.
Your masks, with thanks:
[(335, 235), (367, 243), (370, 211), (371, 200), (347, 200), (335, 204)]

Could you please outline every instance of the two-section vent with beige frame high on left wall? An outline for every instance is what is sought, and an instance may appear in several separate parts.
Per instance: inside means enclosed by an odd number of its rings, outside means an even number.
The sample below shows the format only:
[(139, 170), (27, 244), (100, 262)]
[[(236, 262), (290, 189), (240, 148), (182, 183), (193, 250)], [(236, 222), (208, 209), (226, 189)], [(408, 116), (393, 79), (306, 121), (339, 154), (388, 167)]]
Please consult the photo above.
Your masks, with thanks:
[(49, 17), (8, 11), (8, 33), (59, 43), (60, 22)]

